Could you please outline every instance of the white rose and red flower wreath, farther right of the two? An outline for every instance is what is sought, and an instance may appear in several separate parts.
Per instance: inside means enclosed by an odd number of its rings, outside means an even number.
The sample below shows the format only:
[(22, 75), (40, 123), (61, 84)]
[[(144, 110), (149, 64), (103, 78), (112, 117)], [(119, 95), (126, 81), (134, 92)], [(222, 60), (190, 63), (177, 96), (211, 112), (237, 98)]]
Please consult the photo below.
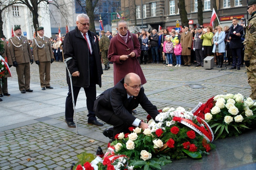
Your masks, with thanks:
[(217, 95), (201, 105), (194, 113), (205, 119), (218, 134), (215, 139), (238, 136), (246, 129), (255, 128), (256, 102), (241, 94)]

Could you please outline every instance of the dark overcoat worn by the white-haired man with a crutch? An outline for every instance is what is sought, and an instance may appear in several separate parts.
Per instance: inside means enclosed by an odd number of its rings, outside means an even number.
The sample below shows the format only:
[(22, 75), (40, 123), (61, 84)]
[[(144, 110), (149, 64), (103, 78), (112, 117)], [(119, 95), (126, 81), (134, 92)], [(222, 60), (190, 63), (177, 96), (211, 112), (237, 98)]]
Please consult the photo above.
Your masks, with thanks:
[[(91, 48), (93, 48), (94, 60), (96, 62), (97, 71), (94, 72), (96, 84), (101, 87), (101, 74), (103, 74), (99, 50), (99, 40), (94, 32), (88, 31)], [(90, 83), (90, 69), (89, 69), (89, 50), (87, 42), (82, 36), (81, 32), (75, 27), (74, 30), (68, 32), (65, 36), (65, 43), (63, 47), (64, 58), (72, 57), (67, 62), (70, 73), (79, 71), (79, 77), (72, 77), (73, 86), (89, 87)], [(67, 82), (70, 83), (70, 78), (67, 75)]]

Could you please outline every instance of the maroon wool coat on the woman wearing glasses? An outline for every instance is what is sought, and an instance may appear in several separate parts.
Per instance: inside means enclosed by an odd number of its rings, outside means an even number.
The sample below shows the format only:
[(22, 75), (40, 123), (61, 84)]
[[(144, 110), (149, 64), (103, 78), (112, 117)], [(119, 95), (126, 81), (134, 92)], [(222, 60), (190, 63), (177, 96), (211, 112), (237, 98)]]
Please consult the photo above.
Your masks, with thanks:
[[(147, 81), (138, 60), (141, 52), (139, 40), (135, 34), (132, 34), (134, 40), (133, 46), (131, 33), (127, 31), (127, 34), (128, 38), (126, 43), (118, 33), (116, 36), (111, 38), (110, 41), (108, 58), (110, 62), (113, 62), (114, 66), (114, 85), (122, 80), (126, 74), (131, 72), (138, 74), (141, 79), (141, 84), (145, 84)], [(119, 60), (121, 55), (129, 55), (131, 52), (135, 53), (135, 57), (129, 57), (125, 61)]]

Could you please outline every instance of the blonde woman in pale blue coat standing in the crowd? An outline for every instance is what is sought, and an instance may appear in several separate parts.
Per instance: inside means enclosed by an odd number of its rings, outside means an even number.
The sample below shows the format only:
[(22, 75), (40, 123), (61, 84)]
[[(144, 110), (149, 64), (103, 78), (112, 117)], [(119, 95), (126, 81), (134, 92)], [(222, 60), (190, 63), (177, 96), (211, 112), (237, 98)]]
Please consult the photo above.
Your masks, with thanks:
[(213, 36), (213, 50), (212, 52), (216, 54), (218, 68), (222, 68), (223, 64), (223, 53), (225, 52), (225, 32), (224, 28), (221, 25), (217, 26), (217, 32)]

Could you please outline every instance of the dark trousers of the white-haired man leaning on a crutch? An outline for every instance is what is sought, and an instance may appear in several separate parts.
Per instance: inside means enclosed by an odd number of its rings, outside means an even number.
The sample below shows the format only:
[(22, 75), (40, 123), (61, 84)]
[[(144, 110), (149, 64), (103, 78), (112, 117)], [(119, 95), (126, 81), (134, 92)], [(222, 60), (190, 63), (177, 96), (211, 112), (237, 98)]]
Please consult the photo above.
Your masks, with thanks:
[[(74, 101), (76, 105), (76, 99), (78, 97), (81, 87), (73, 86)], [(94, 101), (96, 100), (96, 84), (91, 84), (88, 88), (84, 88), (86, 95), (86, 105), (88, 110), (88, 120), (96, 120), (95, 113), (93, 111)], [(71, 86), (69, 85), (68, 97), (66, 98), (65, 117), (69, 122), (73, 121), (74, 109), (72, 103)]]

